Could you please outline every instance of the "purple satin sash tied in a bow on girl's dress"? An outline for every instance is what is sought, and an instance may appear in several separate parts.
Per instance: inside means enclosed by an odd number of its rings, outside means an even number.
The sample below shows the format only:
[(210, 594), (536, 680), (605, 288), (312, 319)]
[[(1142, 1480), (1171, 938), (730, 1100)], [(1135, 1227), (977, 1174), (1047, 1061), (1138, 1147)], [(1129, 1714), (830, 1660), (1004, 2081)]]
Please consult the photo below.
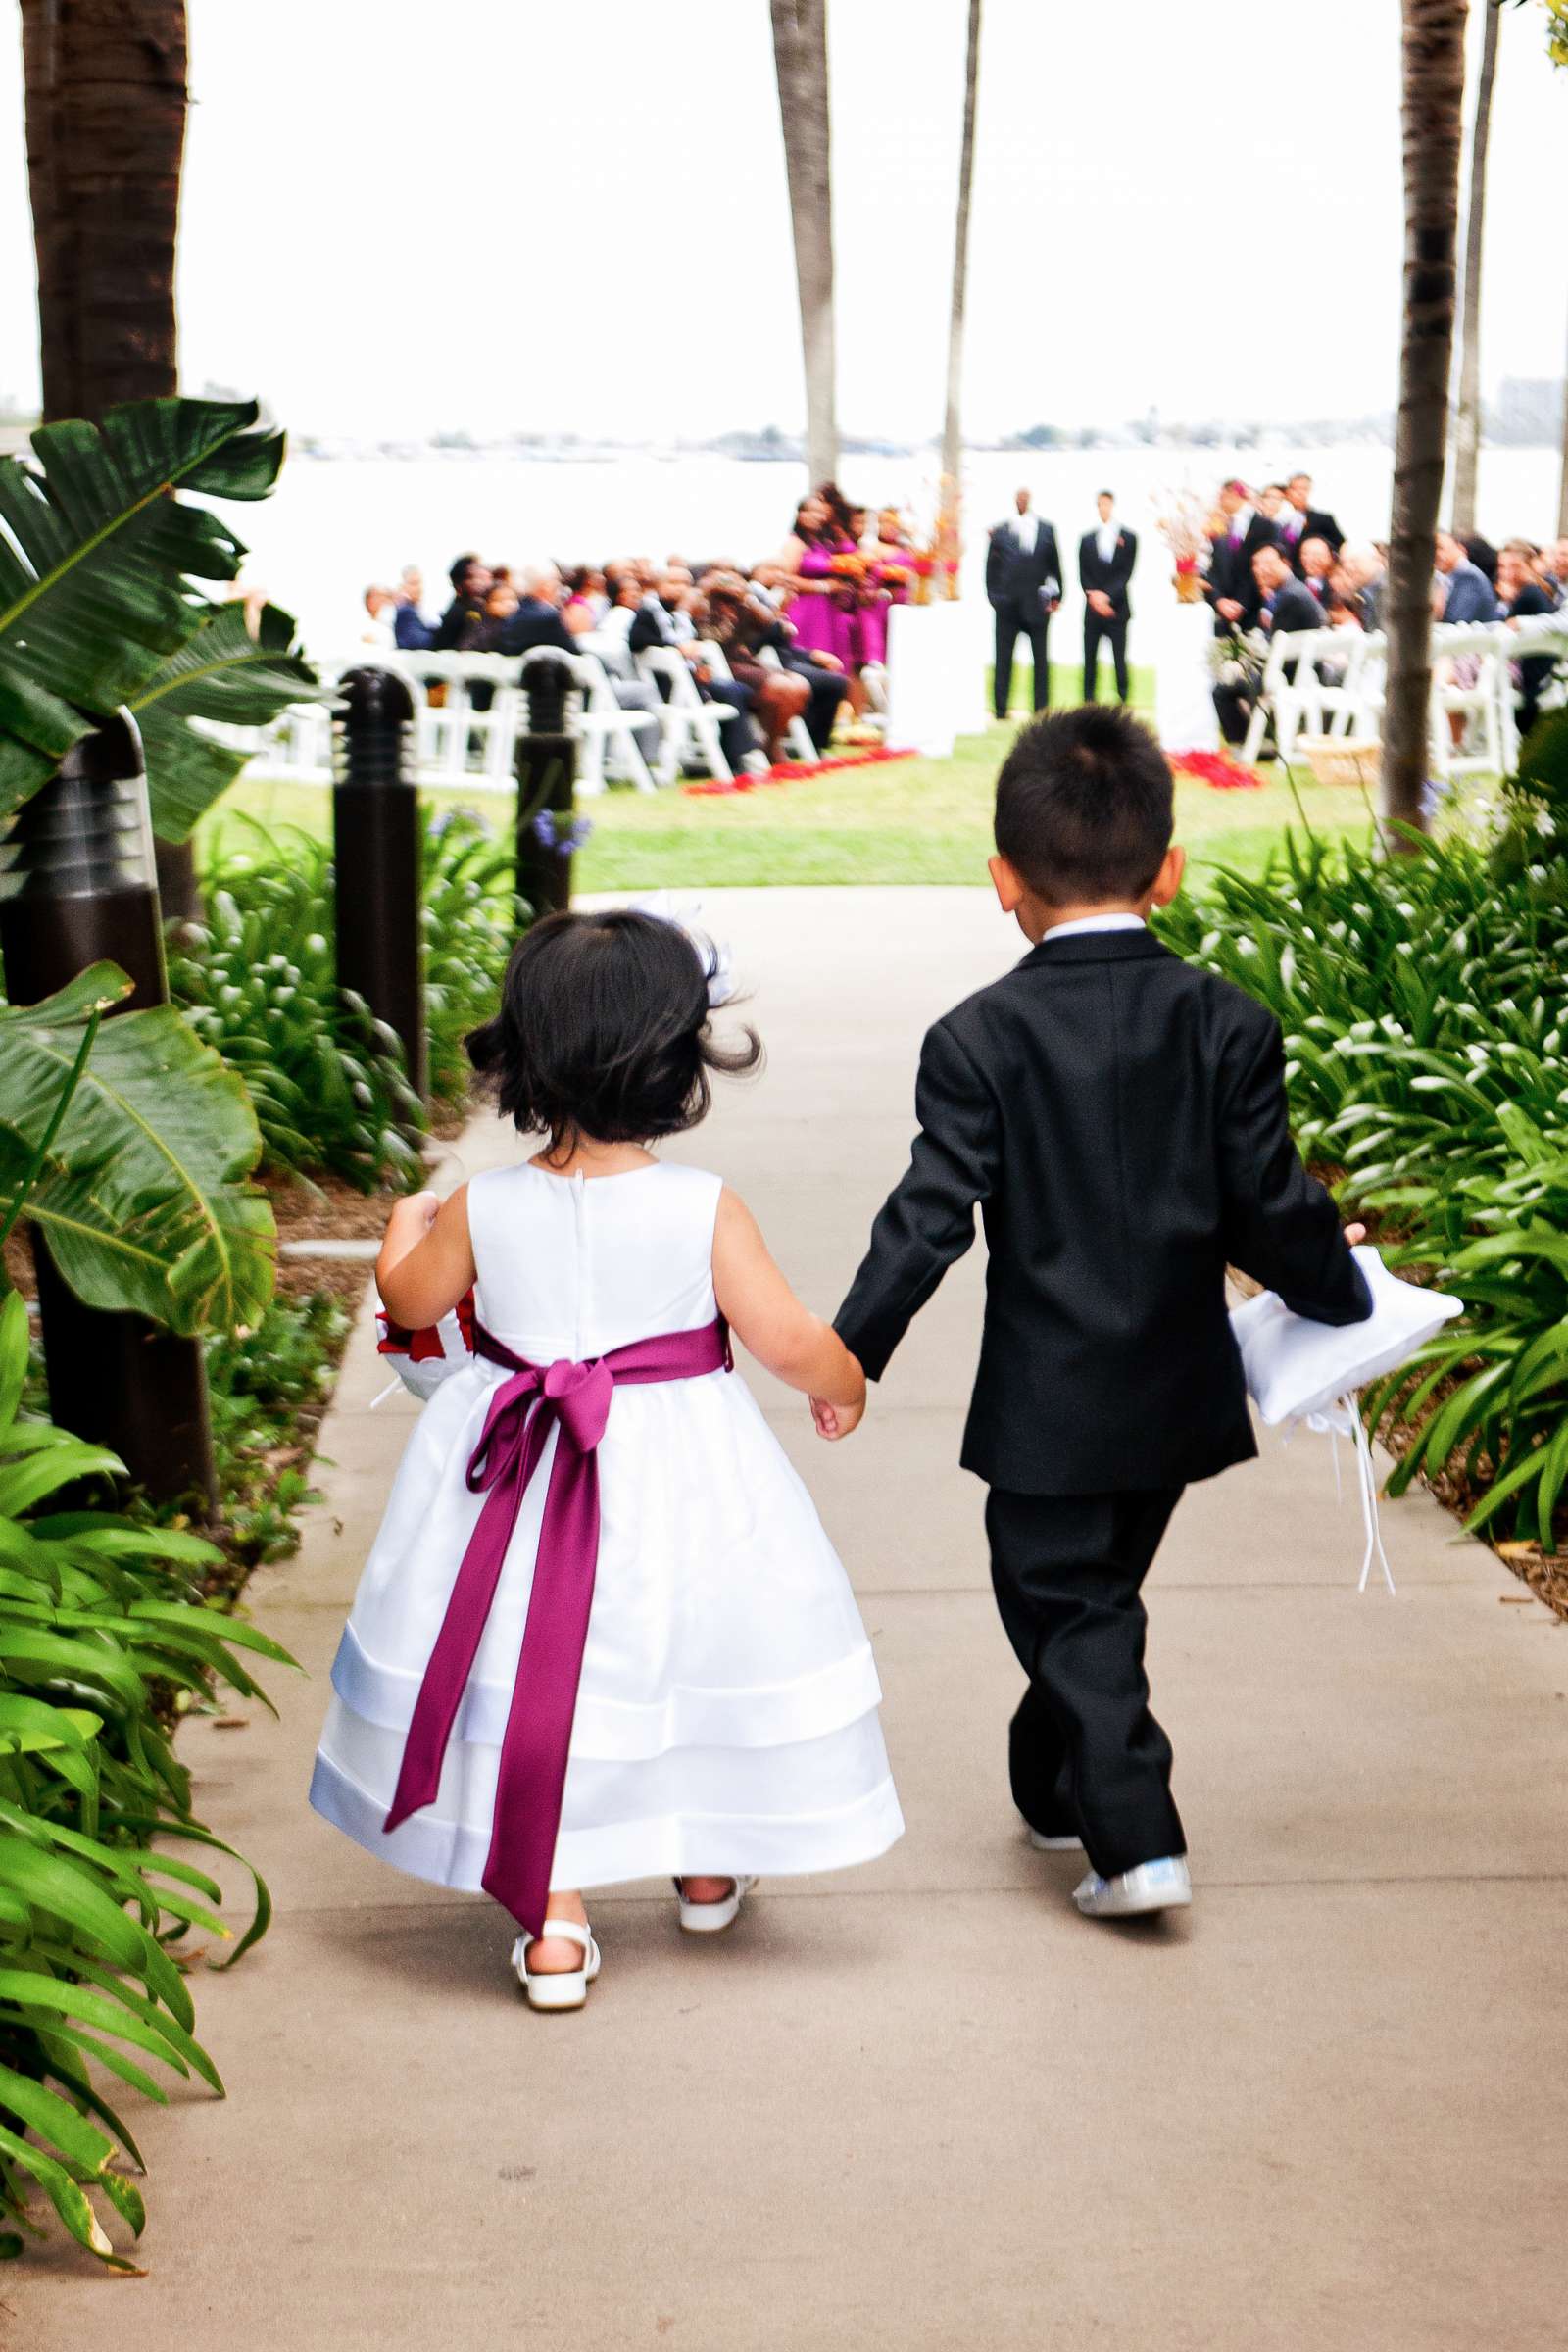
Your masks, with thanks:
[(484, 1508), (468, 1538), (414, 1700), (383, 1830), (395, 1830), (409, 1813), (435, 1802), (447, 1740), (480, 1651), (505, 1548), (550, 1430), (559, 1428), (517, 1682), (501, 1738), (496, 1820), (480, 1879), (487, 1893), (505, 1903), (512, 1917), (538, 1936), (550, 1896), (571, 1717), (599, 1559), (597, 1444), (604, 1437), (611, 1397), (621, 1383), (696, 1381), (708, 1371), (731, 1371), (733, 1357), (722, 1319), (698, 1331), (639, 1338), (585, 1364), (564, 1357), (555, 1364), (529, 1364), (475, 1324), (475, 1355), (505, 1364), (512, 1378), (496, 1388), (484, 1435), (468, 1461), (468, 1486), (473, 1494), (484, 1494)]

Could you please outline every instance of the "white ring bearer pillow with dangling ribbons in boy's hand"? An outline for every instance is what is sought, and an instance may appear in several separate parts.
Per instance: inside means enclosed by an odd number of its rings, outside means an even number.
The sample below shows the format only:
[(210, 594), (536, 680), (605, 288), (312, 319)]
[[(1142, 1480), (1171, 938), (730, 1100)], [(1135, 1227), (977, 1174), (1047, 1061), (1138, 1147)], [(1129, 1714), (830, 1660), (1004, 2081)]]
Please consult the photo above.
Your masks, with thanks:
[(1401, 1282), (1387, 1270), (1371, 1242), (1356, 1244), (1352, 1256), (1373, 1294), (1373, 1312), (1366, 1322), (1307, 1322), (1305, 1315), (1293, 1315), (1276, 1291), (1260, 1291), (1232, 1310), (1229, 1327), (1241, 1350), (1246, 1392), (1267, 1428), (1305, 1423), (1309, 1430), (1352, 1439), (1366, 1529), (1366, 1557), (1356, 1590), (1366, 1592), (1373, 1559), (1378, 1559), (1392, 1592), (1394, 1576), (1378, 1526), (1378, 1475), (1356, 1411), (1356, 1390), (1385, 1371), (1399, 1371), (1401, 1364), (1408, 1364), (1418, 1348), (1425, 1348), (1446, 1322), (1465, 1312), (1465, 1301), (1446, 1291), (1427, 1291), (1418, 1282)]

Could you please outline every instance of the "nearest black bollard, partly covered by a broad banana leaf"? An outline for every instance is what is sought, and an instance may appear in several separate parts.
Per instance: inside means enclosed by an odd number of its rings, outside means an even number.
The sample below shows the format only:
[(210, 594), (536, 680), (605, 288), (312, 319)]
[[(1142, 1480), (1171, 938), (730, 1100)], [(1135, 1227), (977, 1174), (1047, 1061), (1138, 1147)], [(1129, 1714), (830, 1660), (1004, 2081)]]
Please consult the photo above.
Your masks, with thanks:
[[(103, 960), (134, 981), (118, 1014), (169, 1002), (141, 736), (129, 710), (73, 746), (0, 830), (0, 957), (12, 1004), (35, 1004)], [(158, 1501), (216, 1503), (200, 1341), (146, 1315), (82, 1305), (38, 1228), (33, 1263), (54, 1421), (118, 1454)]]

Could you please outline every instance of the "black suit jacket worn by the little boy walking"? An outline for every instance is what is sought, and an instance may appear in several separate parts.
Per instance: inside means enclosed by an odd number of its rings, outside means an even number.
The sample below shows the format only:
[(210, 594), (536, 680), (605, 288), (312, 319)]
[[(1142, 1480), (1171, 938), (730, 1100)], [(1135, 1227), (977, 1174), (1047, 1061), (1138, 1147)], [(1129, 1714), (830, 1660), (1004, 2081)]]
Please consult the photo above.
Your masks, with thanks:
[(1046, 938), (950, 1011), (914, 1112), (837, 1329), (879, 1378), (980, 1204), (964, 1468), (992, 1486), (1182, 1486), (1255, 1454), (1227, 1263), (1319, 1322), (1371, 1312), (1291, 1141), (1279, 1023), (1150, 931)]

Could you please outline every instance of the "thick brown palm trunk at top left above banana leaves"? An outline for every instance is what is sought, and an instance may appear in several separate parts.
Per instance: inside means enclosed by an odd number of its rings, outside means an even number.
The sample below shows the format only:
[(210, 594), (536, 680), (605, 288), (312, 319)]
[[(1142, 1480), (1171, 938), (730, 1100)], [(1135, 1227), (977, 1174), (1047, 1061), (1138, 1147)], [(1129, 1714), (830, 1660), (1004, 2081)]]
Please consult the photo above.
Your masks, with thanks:
[(183, 0), (21, 0), (45, 419), (176, 386)]

